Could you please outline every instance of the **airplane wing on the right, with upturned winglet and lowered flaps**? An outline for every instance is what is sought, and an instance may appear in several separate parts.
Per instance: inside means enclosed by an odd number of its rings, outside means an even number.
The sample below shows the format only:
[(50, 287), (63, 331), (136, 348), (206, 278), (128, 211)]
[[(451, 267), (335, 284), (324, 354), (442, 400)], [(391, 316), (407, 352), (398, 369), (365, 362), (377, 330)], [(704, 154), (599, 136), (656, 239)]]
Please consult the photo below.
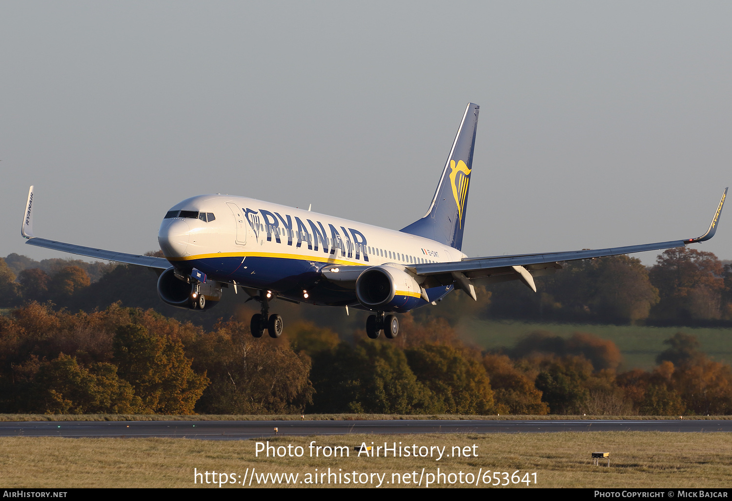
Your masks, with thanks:
[(484, 258), (463, 259), (449, 263), (417, 264), (408, 267), (415, 275), (425, 278), (425, 287), (454, 284), (456, 288), (465, 290), (475, 299), (471, 281), (491, 283), (498, 281), (520, 280), (536, 292), (534, 276), (547, 275), (561, 269), (561, 261), (575, 261), (605, 256), (619, 256), (643, 251), (660, 251), (675, 247), (684, 247), (690, 243), (704, 242), (714, 237), (722, 214), (722, 206), (727, 197), (725, 188), (722, 199), (714, 212), (709, 229), (701, 237), (685, 240), (669, 240), (642, 245), (627, 245), (605, 249), (584, 249), (582, 251), (551, 252), (539, 254), (517, 254), (515, 256), (492, 256)]

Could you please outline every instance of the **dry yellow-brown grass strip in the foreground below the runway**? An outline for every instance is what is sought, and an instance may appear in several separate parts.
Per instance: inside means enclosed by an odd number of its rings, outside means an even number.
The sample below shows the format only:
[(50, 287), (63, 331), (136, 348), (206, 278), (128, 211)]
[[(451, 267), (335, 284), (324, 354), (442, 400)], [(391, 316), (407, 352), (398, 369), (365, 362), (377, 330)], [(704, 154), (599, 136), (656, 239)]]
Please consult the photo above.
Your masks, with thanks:
[[(244, 478), (251, 478), (254, 469), (258, 475), (297, 474), (289, 486), (307, 487), (307, 474), (315, 469), (318, 474), (328, 469), (335, 474), (357, 472), (364, 483), (345, 482), (324, 487), (376, 487), (378, 474), (382, 487), (414, 487), (422, 480), (422, 488), (437, 468), (447, 475), (455, 474), (455, 483), (449, 487), (475, 487), (460, 484), (458, 474), (467, 473), (473, 481), (479, 476), (479, 486), (486, 478), (490, 483), (505, 483), (503, 472), (509, 478), (516, 470), (520, 478), (526, 473), (529, 488), (537, 487), (664, 487), (664, 488), (720, 488), (729, 486), (732, 467), (732, 434), (729, 433), (663, 433), (653, 431), (568, 432), (537, 434), (419, 434), (419, 435), (339, 435), (313, 437), (269, 437), (269, 445), (288, 445), (303, 448), (302, 457), (255, 456), (257, 440), (190, 440), (190, 439), (64, 439), (57, 437), (4, 437), (0, 438), (0, 470), (3, 487), (203, 487), (220, 489), (217, 483), (194, 484), (197, 472), (225, 472), (227, 480), (222, 487), (250, 489), (272, 486), (254, 481), (242, 486)], [(308, 445), (331, 447), (348, 446), (349, 457), (324, 458), (309, 456)], [(370, 445), (392, 442), (404, 445), (436, 446), (444, 448), (444, 456), (437, 460), (437, 451), (430, 457), (357, 457), (354, 446), (362, 442)], [(472, 446), (476, 447), (473, 448)], [(263, 447), (264, 448), (264, 447)], [(469, 449), (469, 456), (458, 456)], [(594, 466), (591, 453), (610, 453), (610, 467)], [(284, 453), (284, 452), (283, 452)], [(427, 453), (425, 452), (425, 456)], [(476, 456), (477, 455), (477, 456)], [(381, 455), (383, 456), (383, 454)], [(422, 476), (422, 468), (425, 475)], [(485, 472), (500, 472), (497, 480)], [(413, 475), (413, 472), (416, 474)], [(363, 476), (362, 476), (363, 474)], [(248, 475), (248, 476), (247, 476)], [(209, 476), (209, 480), (212, 477)], [(332, 478), (335, 481), (335, 477)], [(370, 483), (370, 480), (374, 483)], [(398, 479), (398, 483), (397, 483)], [(198, 478), (196, 479), (198, 480)], [(408, 480), (409, 483), (405, 484)], [(414, 482), (412, 481), (414, 480)], [(449, 481), (449, 478), (446, 479)], [(302, 483), (301, 483), (302, 482)], [(509, 482), (509, 481), (508, 481)], [(397, 485), (395, 485), (397, 483)], [(286, 483), (276, 483), (286, 487)], [(321, 486), (318, 482), (318, 487)], [(446, 486), (442, 483), (441, 486)], [(433, 484), (430, 487), (437, 487)], [(523, 488), (524, 483), (508, 483), (507, 487)], [(490, 489), (500, 489), (491, 486)]]

